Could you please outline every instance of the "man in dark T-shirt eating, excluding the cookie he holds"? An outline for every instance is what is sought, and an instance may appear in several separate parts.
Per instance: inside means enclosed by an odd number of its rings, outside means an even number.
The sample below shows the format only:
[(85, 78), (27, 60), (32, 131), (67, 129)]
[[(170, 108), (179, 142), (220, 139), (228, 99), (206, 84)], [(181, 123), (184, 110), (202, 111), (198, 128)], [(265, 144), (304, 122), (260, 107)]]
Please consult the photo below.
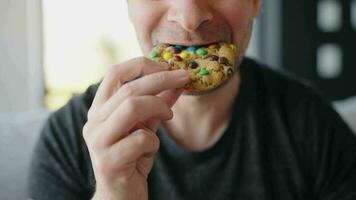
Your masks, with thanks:
[[(33, 199), (356, 199), (356, 138), (311, 87), (244, 58), (259, 0), (128, 0), (143, 53), (234, 43), (238, 73), (187, 95), (185, 71), (136, 58), (54, 113)], [(94, 98), (95, 97), (95, 98)]]

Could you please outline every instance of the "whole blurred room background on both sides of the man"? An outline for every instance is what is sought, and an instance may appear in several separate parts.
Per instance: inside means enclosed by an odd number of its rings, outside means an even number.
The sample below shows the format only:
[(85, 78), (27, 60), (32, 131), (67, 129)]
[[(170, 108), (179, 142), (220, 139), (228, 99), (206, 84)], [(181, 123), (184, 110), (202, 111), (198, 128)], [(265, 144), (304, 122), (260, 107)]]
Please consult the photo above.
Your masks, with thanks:
[[(309, 80), (356, 127), (356, 0), (263, 1), (248, 56)], [(49, 113), (140, 56), (123, 0), (0, 0), (0, 199), (23, 199)]]

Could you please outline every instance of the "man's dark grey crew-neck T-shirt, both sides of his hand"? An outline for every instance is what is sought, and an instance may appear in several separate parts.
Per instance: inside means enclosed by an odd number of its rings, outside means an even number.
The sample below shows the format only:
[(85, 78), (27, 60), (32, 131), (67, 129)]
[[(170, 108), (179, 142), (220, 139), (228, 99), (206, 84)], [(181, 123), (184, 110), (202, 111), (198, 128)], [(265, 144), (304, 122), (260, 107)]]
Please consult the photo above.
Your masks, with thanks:
[[(159, 128), (149, 199), (356, 199), (356, 136), (330, 104), (307, 84), (251, 59), (240, 72), (230, 124), (213, 146), (192, 152)], [(33, 155), (29, 198), (93, 195), (82, 127), (96, 90), (91, 86), (47, 121)]]

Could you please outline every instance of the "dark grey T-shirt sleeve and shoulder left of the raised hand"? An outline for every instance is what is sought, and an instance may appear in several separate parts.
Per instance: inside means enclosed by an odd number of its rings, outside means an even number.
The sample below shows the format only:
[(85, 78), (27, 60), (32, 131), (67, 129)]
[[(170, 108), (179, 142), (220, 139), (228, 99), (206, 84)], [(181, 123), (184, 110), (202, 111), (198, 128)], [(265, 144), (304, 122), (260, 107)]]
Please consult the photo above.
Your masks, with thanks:
[(45, 123), (31, 160), (27, 193), (32, 198), (88, 199), (92, 194), (95, 179), (82, 128), (96, 88), (73, 97)]

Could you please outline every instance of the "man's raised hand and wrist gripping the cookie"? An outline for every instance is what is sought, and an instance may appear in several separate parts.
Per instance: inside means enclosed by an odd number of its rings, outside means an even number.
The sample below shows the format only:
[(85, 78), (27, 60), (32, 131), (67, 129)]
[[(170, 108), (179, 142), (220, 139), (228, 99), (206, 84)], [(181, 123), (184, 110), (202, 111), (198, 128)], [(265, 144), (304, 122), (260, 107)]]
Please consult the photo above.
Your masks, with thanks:
[(148, 199), (158, 125), (173, 117), (171, 107), (181, 95), (175, 88), (189, 82), (185, 71), (168, 69), (136, 58), (104, 77), (83, 128), (96, 178), (94, 199)]

